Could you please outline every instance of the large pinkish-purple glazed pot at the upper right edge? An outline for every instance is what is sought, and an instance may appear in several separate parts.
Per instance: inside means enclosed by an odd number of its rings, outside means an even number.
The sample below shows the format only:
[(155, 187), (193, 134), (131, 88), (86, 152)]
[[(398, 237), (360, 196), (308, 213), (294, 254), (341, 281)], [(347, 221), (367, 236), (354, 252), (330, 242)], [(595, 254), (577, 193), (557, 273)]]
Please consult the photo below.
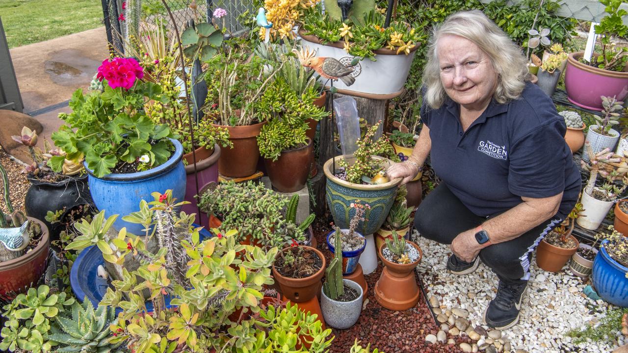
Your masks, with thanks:
[[(583, 52), (571, 53), (565, 69), (567, 99), (579, 107), (602, 111), (600, 95), (622, 102), (628, 95), (628, 72), (602, 70), (578, 62)], [(625, 71), (625, 68), (624, 68)]]

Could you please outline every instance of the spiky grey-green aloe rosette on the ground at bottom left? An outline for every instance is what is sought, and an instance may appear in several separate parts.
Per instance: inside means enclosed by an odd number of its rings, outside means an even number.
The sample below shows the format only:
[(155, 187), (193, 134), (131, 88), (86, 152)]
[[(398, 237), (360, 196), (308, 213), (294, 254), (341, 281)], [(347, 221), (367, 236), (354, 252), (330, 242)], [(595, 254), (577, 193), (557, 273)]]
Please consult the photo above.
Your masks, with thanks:
[(110, 344), (111, 330), (109, 325), (116, 319), (116, 310), (101, 305), (94, 310), (92, 302), (83, 301), (80, 305), (72, 305), (72, 317), (58, 317), (56, 325), (52, 325), (50, 340), (57, 342), (59, 347), (55, 352), (111, 352), (122, 342)]

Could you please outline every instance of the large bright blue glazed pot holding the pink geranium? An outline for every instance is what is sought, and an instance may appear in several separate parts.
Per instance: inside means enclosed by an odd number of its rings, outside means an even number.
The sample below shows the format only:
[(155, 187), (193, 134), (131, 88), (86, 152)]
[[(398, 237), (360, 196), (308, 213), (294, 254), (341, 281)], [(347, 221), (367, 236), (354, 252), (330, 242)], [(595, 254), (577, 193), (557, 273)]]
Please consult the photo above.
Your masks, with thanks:
[(139, 202), (153, 201), (152, 192), (163, 193), (172, 190), (172, 196), (178, 201), (185, 199), (185, 167), (183, 166), (183, 146), (176, 139), (170, 139), (175, 146), (175, 152), (170, 159), (150, 170), (138, 171), (138, 173), (117, 174), (111, 173), (97, 178), (92, 170), (85, 170), (89, 174), (87, 182), (92, 193), (94, 204), (99, 210), (105, 210), (105, 217), (119, 214), (113, 227), (120, 231), (126, 227), (131, 234), (144, 234), (141, 224), (134, 224), (122, 220), (122, 217), (132, 212), (139, 211)]

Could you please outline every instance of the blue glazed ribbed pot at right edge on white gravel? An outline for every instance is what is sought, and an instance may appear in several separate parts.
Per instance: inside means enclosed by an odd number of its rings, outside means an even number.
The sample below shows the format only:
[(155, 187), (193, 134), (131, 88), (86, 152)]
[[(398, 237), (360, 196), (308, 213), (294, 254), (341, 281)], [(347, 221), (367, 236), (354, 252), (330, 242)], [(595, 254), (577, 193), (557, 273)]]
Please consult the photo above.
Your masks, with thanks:
[(607, 242), (609, 241), (602, 242), (600, 251), (593, 260), (591, 281), (602, 299), (625, 308), (628, 307), (628, 268), (609, 256), (604, 246)]

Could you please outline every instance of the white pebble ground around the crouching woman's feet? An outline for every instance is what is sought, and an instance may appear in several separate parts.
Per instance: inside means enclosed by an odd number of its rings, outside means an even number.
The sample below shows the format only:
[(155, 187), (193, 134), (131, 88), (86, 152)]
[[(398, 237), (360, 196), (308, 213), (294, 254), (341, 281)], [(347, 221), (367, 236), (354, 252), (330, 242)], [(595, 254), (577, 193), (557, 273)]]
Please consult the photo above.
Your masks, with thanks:
[[(414, 235), (417, 233), (415, 231)], [(479, 268), (471, 274), (456, 276), (445, 268), (451, 252), (448, 246), (419, 237), (423, 260), (417, 272), (426, 283), (428, 298), (436, 296), (440, 307), (468, 310), (472, 325), (484, 324), (484, 310), (497, 292), (497, 276), (480, 261)], [(512, 350), (527, 352), (611, 352), (617, 346), (628, 343), (620, 337), (615, 345), (606, 343), (580, 344), (575, 347), (566, 332), (580, 329), (586, 323), (594, 323), (604, 317), (608, 305), (590, 300), (582, 293), (586, 283), (573, 276), (565, 266), (560, 273), (549, 273), (536, 266), (533, 259), (531, 280), (521, 304), (519, 324), (505, 330), (503, 336), (512, 343)], [(589, 310), (587, 303), (598, 305), (599, 310)], [(486, 325), (484, 325), (487, 328)], [(610, 335), (620, 336), (619, 332)]]

